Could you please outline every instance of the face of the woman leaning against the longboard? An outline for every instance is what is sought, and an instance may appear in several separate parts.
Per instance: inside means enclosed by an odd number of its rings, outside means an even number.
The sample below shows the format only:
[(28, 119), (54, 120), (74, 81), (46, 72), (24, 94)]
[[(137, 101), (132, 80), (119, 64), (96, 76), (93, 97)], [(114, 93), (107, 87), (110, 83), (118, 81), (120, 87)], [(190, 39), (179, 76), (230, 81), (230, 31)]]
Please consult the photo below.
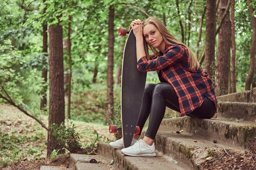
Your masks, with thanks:
[(154, 24), (148, 24), (143, 28), (143, 34), (146, 39), (146, 42), (153, 48), (158, 48), (165, 46), (165, 41), (160, 33), (159, 29)]

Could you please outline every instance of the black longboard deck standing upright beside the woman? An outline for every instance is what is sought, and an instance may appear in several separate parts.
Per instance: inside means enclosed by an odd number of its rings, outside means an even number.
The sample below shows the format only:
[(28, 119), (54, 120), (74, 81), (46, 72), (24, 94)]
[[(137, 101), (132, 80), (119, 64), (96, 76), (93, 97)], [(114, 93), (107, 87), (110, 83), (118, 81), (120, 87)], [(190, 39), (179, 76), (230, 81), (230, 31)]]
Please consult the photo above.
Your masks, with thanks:
[[(148, 46), (145, 40), (144, 50), (148, 57)], [(121, 121), (124, 148), (130, 146), (135, 133), (146, 76), (146, 72), (137, 69), (136, 38), (131, 29), (124, 47), (121, 76)]]

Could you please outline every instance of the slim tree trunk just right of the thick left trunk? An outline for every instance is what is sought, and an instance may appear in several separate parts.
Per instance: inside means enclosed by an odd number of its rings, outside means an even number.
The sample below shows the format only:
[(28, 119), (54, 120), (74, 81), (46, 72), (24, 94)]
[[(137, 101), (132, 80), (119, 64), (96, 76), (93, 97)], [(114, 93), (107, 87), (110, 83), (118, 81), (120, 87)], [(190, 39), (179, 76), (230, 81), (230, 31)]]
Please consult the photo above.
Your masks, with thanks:
[(71, 21), (72, 16), (69, 16), (68, 22), (68, 33), (67, 33), (67, 53), (68, 53), (68, 63), (69, 63), (69, 77), (67, 85), (67, 118), (70, 119), (70, 105), (71, 105), (71, 79), (72, 79), (72, 58), (71, 58)]

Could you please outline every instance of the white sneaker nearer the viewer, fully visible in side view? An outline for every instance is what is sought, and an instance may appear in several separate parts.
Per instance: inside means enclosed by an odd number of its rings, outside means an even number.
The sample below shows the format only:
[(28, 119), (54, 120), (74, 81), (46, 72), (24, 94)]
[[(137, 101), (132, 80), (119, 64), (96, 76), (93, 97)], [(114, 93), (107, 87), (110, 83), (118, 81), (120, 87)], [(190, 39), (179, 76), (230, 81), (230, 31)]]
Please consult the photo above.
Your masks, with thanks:
[(143, 140), (137, 141), (134, 145), (124, 148), (121, 152), (125, 155), (134, 157), (155, 157), (155, 144), (152, 146), (146, 144)]

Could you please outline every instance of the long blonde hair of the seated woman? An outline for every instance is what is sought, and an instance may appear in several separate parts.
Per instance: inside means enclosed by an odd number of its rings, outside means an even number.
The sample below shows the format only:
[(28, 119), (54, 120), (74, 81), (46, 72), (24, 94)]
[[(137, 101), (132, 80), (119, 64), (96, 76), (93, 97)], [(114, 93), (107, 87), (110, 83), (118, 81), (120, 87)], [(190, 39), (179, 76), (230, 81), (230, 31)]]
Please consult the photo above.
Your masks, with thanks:
[[(166, 29), (166, 27), (164, 26), (164, 24), (157, 18), (155, 17), (148, 17), (144, 23), (143, 23), (143, 27), (148, 25), (148, 24), (154, 24), (157, 29), (159, 29), (160, 33), (162, 33), (164, 41), (167, 44), (171, 44), (171, 45), (175, 45), (175, 44), (182, 44), (184, 46), (186, 46), (185, 44), (183, 44), (182, 42), (180, 42), (179, 40), (177, 40), (173, 35), (171, 35), (171, 33)], [(150, 58), (159, 56), (159, 49), (157, 48), (153, 48), (152, 46), (149, 46), (150, 50), (153, 52), (153, 55), (150, 56)], [(186, 46), (186, 48), (189, 51), (189, 69), (193, 70), (193, 69), (198, 69), (198, 67), (200, 66), (198, 60), (196, 60), (193, 52), (191, 51), (191, 49)]]

